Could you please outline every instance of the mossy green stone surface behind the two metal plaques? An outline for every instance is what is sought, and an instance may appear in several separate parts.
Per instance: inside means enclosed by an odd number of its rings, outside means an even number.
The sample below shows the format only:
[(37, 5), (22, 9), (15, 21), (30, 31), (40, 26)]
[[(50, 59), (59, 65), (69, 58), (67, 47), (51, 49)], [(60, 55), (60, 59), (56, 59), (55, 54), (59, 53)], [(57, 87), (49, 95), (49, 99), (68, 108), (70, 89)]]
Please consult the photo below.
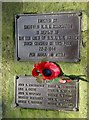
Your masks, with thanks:
[[(17, 62), (14, 60), (14, 17), (18, 13), (49, 13), (60, 11), (82, 11), (81, 61), (79, 63), (60, 62), (66, 74), (86, 75), (87, 73), (87, 3), (77, 2), (17, 2), (2, 3), (2, 104), (3, 118), (87, 118), (88, 83), (79, 83), (79, 111), (63, 112), (51, 110), (21, 109), (14, 107), (14, 77), (31, 75), (33, 62)], [(88, 86), (87, 86), (88, 85)]]

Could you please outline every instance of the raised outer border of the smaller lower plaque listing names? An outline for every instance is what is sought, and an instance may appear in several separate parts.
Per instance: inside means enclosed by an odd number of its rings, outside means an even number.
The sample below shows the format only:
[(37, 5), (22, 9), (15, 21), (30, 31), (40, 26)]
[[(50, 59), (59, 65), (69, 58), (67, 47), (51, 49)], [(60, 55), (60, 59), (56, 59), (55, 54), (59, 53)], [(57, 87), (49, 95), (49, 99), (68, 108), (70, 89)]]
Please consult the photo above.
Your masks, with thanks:
[(16, 108), (23, 108), (23, 109), (36, 109), (36, 110), (52, 110), (52, 111), (67, 111), (67, 112), (70, 112), (70, 111), (74, 111), (74, 112), (77, 112), (77, 111), (79, 111), (79, 81), (76, 79), (75, 81), (76, 81), (76, 106), (72, 109), (72, 110), (68, 110), (68, 109), (66, 109), (66, 110), (64, 110), (63, 108), (61, 108), (61, 109), (52, 109), (52, 108), (30, 108), (30, 107), (28, 107), (28, 108), (26, 108), (26, 107), (21, 107), (21, 106), (19, 106), (19, 104), (18, 103), (16, 103), (16, 101), (17, 101), (17, 98), (16, 98), (16, 95), (17, 95), (17, 80), (19, 80), (19, 78), (20, 79), (23, 79), (24, 77), (27, 77), (27, 78), (32, 78), (33, 76), (31, 76), (31, 75), (25, 75), (25, 76), (15, 76), (14, 77), (14, 107), (16, 107)]

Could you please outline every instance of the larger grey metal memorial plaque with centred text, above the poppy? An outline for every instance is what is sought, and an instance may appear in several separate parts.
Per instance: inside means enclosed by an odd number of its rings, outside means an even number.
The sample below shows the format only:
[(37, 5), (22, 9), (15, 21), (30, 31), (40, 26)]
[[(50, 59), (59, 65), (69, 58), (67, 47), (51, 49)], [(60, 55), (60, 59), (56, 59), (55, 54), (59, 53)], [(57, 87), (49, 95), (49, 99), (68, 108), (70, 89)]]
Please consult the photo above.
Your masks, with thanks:
[(17, 60), (78, 62), (81, 16), (81, 12), (16, 15)]

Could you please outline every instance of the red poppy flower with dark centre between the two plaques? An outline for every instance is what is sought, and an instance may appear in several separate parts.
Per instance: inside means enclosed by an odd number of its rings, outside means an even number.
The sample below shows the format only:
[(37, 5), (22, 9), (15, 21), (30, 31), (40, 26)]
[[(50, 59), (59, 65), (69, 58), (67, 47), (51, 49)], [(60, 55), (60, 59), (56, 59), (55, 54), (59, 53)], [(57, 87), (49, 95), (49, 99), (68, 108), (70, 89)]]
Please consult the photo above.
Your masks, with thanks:
[(44, 80), (53, 80), (61, 75), (61, 68), (53, 62), (36, 63), (32, 75), (36, 77), (39, 74), (42, 74)]

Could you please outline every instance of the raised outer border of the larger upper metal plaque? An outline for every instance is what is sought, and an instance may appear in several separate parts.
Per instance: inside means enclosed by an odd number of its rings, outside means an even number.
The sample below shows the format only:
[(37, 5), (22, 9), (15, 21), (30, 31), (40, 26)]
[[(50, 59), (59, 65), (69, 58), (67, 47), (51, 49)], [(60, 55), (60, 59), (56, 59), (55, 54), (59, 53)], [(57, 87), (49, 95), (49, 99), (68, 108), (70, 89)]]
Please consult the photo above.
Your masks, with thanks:
[[(21, 17), (21, 16), (42, 16), (42, 15), (60, 15), (60, 14), (76, 14), (79, 17), (79, 40), (78, 40), (78, 58), (75, 59), (62, 59), (62, 60), (55, 60), (55, 62), (80, 62), (81, 58), (80, 58), (80, 44), (81, 44), (81, 19), (82, 19), (82, 11), (68, 11), (68, 12), (51, 12), (51, 13), (34, 13), (34, 14), (30, 14), (30, 13), (23, 13), (23, 14), (17, 14), (15, 15), (15, 60), (16, 61), (36, 61), (35, 59), (31, 60), (31, 59), (21, 59), (18, 56), (18, 31), (17, 31), (17, 20)], [(42, 57), (45, 58), (45, 57)], [(40, 61), (37, 59), (37, 61)]]

